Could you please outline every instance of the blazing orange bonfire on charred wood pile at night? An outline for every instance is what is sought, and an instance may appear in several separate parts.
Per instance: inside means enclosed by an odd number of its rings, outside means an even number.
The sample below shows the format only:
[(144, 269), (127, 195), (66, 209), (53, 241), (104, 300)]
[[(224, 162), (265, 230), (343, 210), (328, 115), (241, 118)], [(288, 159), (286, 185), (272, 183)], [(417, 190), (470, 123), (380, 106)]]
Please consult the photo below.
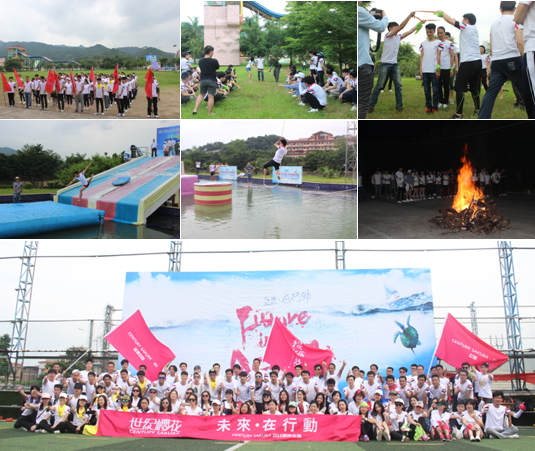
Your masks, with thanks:
[(473, 169), (468, 159), (467, 146), (464, 148), (461, 162), (463, 167), (457, 177), (458, 189), (453, 205), (451, 208), (439, 210), (441, 216), (429, 222), (443, 229), (458, 232), (484, 232), (487, 235), (511, 227), (509, 218), (504, 218), (498, 213), (494, 201), (486, 199), (483, 192), (472, 181)]

